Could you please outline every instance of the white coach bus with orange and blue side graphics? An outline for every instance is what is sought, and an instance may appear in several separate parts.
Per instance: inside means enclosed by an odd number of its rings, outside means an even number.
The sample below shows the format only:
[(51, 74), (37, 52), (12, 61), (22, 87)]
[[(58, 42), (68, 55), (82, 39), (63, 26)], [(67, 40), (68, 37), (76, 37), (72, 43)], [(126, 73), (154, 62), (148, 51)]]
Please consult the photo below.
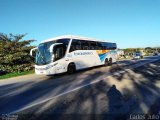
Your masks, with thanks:
[(117, 59), (116, 43), (72, 35), (45, 40), (30, 51), (31, 56), (33, 51), (35, 73), (46, 75), (111, 65)]

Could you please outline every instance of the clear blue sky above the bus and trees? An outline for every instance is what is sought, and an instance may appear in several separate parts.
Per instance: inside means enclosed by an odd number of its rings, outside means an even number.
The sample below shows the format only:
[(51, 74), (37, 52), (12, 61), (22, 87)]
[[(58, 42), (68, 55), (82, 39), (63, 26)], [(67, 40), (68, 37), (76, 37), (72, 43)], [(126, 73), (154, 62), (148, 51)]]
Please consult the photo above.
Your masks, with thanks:
[(119, 48), (160, 46), (160, 0), (0, 0), (0, 32), (41, 41), (78, 35)]

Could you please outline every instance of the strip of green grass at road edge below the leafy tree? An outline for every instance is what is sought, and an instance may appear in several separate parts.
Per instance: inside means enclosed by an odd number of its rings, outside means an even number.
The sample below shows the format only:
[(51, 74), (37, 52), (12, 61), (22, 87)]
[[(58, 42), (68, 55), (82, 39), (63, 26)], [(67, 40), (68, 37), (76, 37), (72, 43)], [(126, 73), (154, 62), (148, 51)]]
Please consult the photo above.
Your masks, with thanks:
[(15, 73), (8, 73), (5, 75), (1, 75), (0, 79), (7, 79), (7, 78), (12, 78), (12, 77), (17, 77), (17, 76), (22, 76), (22, 75), (27, 75), (27, 74), (32, 74), (34, 73), (34, 70), (30, 70), (30, 71), (25, 71), (25, 72), (15, 72)]

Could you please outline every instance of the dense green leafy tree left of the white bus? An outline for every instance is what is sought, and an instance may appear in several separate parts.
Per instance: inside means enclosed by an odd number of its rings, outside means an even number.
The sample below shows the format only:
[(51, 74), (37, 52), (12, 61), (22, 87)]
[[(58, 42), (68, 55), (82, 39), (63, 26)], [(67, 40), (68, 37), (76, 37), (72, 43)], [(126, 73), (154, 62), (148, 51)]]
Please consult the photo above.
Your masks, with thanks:
[(22, 72), (33, 68), (33, 58), (29, 55), (30, 45), (35, 40), (23, 40), (26, 34), (0, 33), (0, 71)]

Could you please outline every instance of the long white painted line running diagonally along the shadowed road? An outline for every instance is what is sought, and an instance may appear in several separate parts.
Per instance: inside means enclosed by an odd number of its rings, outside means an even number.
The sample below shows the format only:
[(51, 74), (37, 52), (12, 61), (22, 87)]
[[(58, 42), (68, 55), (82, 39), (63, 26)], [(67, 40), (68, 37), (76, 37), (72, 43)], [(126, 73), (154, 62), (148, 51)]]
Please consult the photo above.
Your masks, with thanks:
[[(133, 67), (133, 68), (140, 67), (140, 66), (142, 66), (142, 65), (144, 65), (144, 64), (151, 63), (151, 62), (157, 61), (157, 60), (159, 60), (159, 59), (160, 59), (160, 58), (158, 58), (158, 59), (154, 59), (154, 60), (152, 60), (152, 61), (147, 61), (147, 62), (144, 62), (143, 64), (140, 64), (140, 65), (136, 65), (136, 64), (135, 64), (135, 67)], [(138, 64), (138, 63), (137, 63), (137, 64)], [(134, 65), (131, 65), (131, 66), (134, 66)], [(128, 66), (128, 67), (130, 67), (130, 66)], [(120, 74), (120, 73), (124, 73), (124, 72), (126, 72), (126, 71), (128, 71), (128, 70), (130, 70), (130, 69), (133, 69), (133, 68), (125, 69), (124, 71), (120, 71), (120, 72), (118, 72), (118, 73), (119, 73), (119, 74)], [(112, 76), (112, 75), (108, 75), (108, 76), (106, 76), (106, 77), (109, 77), (109, 76)], [(105, 77), (105, 78), (106, 78), (106, 77)], [(31, 107), (33, 107), (33, 106), (36, 106), (36, 105), (42, 104), (42, 103), (47, 102), (47, 101), (49, 101), (49, 100), (52, 100), (52, 99), (58, 98), (58, 97), (60, 97), (60, 96), (63, 96), (63, 95), (65, 95), (65, 94), (68, 94), (68, 93), (71, 93), (71, 92), (74, 92), (74, 91), (79, 90), (79, 89), (81, 89), (81, 88), (84, 88), (84, 87), (86, 87), (86, 86), (89, 86), (89, 85), (92, 85), (92, 84), (98, 83), (98, 82), (99, 82), (99, 81), (101, 81), (101, 80), (103, 80), (103, 79), (94, 80), (94, 81), (92, 81), (92, 82), (90, 82), (90, 83), (87, 83), (87, 84), (81, 85), (81, 86), (79, 86), (79, 87), (77, 87), (77, 88), (74, 88), (74, 89), (68, 90), (68, 91), (63, 92), (63, 93), (61, 93), (61, 94), (59, 94), (59, 95), (56, 95), (56, 96), (53, 96), (53, 97), (51, 97), (51, 98), (48, 98), (48, 99), (42, 100), (42, 101), (40, 101), (40, 102), (38, 102), (38, 103), (33, 103), (33, 104), (30, 104), (30, 105), (27, 105), (26, 107), (23, 107), (22, 109), (19, 109), (19, 110), (13, 111), (13, 112), (11, 112), (11, 113), (9, 113), (9, 114), (15, 114), (15, 113), (17, 113), (17, 112), (20, 112), (20, 111), (23, 111), (23, 110), (29, 109), (29, 108), (31, 108)]]

